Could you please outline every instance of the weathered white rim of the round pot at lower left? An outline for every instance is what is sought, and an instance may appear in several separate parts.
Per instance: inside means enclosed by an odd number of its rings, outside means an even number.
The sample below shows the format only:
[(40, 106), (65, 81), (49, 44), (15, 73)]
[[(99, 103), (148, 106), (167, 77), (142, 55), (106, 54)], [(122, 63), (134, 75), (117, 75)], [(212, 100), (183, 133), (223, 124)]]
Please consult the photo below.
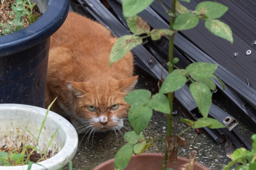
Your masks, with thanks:
[[(37, 113), (40, 115), (45, 115), (46, 109), (36, 106), (30, 106), (25, 104), (0, 104), (0, 110), (2, 109), (10, 109), (10, 110), (27, 110), (28, 112), (30, 110), (37, 110)], [(67, 121), (64, 117), (60, 116), (57, 113), (54, 113), (52, 111), (48, 112), (47, 119), (51, 119), (52, 121), (55, 121), (56, 124), (60, 126), (60, 128), (63, 129), (66, 135), (66, 141), (63, 146), (63, 148), (53, 157), (41, 161), (37, 164), (33, 164), (32, 168), (33, 170), (41, 170), (45, 168), (48, 169), (58, 169), (62, 166), (66, 165), (75, 155), (77, 147), (78, 147), (78, 135), (76, 133), (75, 128), (73, 125)], [(65, 157), (63, 155), (66, 155)], [(42, 167), (43, 165), (44, 167)], [(21, 166), (5, 166), (5, 170), (27, 170), (28, 165), (21, 165)]]

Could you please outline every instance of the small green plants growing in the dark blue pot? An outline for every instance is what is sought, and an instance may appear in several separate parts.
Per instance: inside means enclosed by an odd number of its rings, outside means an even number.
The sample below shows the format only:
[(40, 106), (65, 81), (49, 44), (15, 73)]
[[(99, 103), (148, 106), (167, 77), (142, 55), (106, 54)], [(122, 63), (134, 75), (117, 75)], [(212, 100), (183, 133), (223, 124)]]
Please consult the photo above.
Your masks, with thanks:
[[(26, 3), (28, 3), (29, 5), (30, 12), (27, 8), (25, 8)], [(11, 6), (13, 13), (10, 12), (9, 15), (14, 15), (14, 19), (13, 21), (8, 20), (5, 23), (0, 23), (0, 36), (7, 35), (9, 33), (22, 29), (24, 25), (22, 19), (24, 15), (28, 16), (30, 24), (37, 20), (37, 15), (32, 15), (32, 9), (35, 4), (31, 4), (30, 0), (16, 0), (16, 3), (13, 3)]]

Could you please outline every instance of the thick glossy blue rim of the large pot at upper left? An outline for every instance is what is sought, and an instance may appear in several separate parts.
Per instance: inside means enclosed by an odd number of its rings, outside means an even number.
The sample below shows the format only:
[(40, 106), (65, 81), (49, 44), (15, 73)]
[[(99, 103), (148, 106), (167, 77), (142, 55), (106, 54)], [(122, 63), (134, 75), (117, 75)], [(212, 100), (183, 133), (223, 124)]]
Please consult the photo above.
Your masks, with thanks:
[(37, 45), (56, 32), (65, 21), (69, 0), (49, 0), (44, 14), (33, 24), (0, 37), (0, 57)]

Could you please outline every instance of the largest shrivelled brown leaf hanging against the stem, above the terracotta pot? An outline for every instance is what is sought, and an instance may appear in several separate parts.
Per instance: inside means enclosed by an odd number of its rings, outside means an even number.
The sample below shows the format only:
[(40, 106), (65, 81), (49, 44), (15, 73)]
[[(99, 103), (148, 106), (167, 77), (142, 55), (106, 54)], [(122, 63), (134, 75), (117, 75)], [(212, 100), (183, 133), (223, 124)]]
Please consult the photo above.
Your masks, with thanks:
[(165, 136), (165, 141), (167, 145), (168, 161), (176, 163), (177, 162), (177, 146), (173, 142), (174, 136)]

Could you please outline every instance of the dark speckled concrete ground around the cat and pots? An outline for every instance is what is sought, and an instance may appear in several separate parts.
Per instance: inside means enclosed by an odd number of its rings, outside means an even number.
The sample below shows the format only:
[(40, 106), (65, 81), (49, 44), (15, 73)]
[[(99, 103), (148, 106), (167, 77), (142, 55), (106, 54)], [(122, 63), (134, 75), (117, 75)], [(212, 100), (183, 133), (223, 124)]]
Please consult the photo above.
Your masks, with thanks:
[[(72, 8), (75, 12), (80, 14), (85, 14), (84, 10), (78, 5), (74, 5), (75, 1), (71, 1)], [(137, 83), (137, 89), (148, 89), (152, 93), (158, 91), (156, 82), (153, 82), (150, 77), (145, 73), (136, 69), (136, 75), (139, 75), (139, 81)], [(215, 95), (215, 94), (214, 94)], [(251, 135), (255, 133), (255, 124), (248, 122), (248, 118), (245, 114), (236, 107), (232, 101), (223, 96), (213, 96), (213, 103), (221, 107), (228, 114), (235, 117), (239, 124), (236, 126), (237, 130), (244, 136), (247, 141), (251, 143)], [(174, 110), (178, 111), (178, 115), (174, 117), (173, 125), (174, 132), (180, 133), (182, 130), (188, 126), (180, 121), (180, 118), (184, 117), (183, 113), (186, 112), (185, 109), (176, 102), (174, 104)], [(128, 129), (132, 129), (129, 122), (125, 122), (127, 128), (122, 128), (121, 131), (125, 134)], [(154, 111), (151, 118), (149, 126), (143, 131), (146, 138), (163, 138), (166, 134), (166, 117), (164, 114)], [(115, 157), (119, 148), (126, 144), (122, 137), (122, 134), (117, 134), (118, 138), (113, 131), (108, 131), (105, 133), (95, 133), (94, 136), (79, 135), (79, 148), (76, 156), (73, 158), (73, 169), (76, 170), (92, 170), (97, 165), (104, 161), (112, 159)], [(227, 165), (230, 159), (226, 156), (225, 143), (217, 144), (207, 133), (197, 134), (194, 129), (190, 129), (181, 135), (187, 141), (186, 148), (178, 148), (178, 156), (188, 158), (188, 153), (193, 148), (197, 151), (196, 161), (207, 166), (212, 170), (220, 170), (224, 165)], [(88, 141), (87, 141), (88, 138)], [(86, 144), (87, 141), (87, 144)], [(164, 142), (155, 141), (154, 142), (158, 148), (150, 147), (146, 152), (161, 153), (164, 152)], [(64, 169), (68, 169), (65, 166)]]

